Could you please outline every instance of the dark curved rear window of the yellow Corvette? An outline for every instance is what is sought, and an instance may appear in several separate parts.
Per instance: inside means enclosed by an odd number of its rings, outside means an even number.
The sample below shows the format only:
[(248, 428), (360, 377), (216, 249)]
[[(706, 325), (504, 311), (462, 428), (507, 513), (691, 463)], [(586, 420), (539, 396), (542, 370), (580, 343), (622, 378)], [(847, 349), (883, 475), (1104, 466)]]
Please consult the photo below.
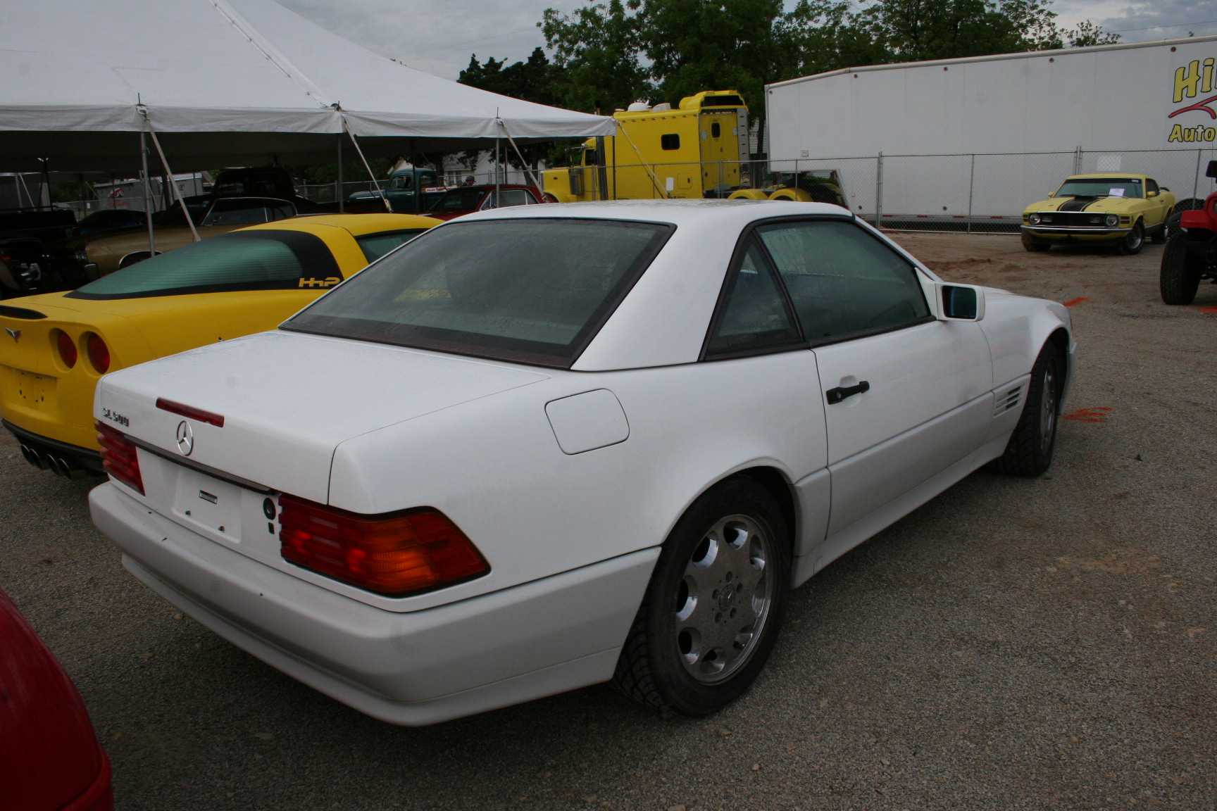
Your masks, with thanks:
[(192, 242), (102, 276), (68, 298), (116, 299), (223, 291), (325, 289), (342, 281), (320, 237), (242, 231)]

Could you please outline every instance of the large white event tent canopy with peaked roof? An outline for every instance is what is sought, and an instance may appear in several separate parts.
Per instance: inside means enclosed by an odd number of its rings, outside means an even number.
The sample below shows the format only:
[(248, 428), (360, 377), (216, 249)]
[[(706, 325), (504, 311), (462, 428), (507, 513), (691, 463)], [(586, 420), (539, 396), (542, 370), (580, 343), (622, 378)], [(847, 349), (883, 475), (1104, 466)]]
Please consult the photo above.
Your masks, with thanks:
[(273, 0), (0, 0), (0, 171), (135, 169), (145, 135), (186, 171), (332, 163), (344, 134), (411, 154), (615, 131), (415, 71)]

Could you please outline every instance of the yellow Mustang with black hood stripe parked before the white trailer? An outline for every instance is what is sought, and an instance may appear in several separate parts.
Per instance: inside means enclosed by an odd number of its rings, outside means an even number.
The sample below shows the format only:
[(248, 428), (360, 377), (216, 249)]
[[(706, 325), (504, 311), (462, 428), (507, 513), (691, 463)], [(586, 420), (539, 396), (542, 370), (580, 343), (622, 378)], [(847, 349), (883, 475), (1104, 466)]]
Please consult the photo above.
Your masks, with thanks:
[(1166, 218), (1174, 195), (1145, 175), (1104, 173), (1073, 175), (1048, 199), (1022, 212), (1022, 247), (1048, 250), (1054, 244), (1112, 244), (1139, 253), (1149, 236), (1166, 242)]

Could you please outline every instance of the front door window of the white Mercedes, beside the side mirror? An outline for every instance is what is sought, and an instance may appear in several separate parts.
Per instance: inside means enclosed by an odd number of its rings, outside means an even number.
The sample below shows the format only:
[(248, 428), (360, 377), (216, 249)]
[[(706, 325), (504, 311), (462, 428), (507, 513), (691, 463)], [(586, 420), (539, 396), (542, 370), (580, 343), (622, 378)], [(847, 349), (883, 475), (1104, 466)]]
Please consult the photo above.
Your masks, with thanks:
[(775, 223), (758, 227), (757, 233), (812, 343), (930, 315), (916, 270), (852, 223)]

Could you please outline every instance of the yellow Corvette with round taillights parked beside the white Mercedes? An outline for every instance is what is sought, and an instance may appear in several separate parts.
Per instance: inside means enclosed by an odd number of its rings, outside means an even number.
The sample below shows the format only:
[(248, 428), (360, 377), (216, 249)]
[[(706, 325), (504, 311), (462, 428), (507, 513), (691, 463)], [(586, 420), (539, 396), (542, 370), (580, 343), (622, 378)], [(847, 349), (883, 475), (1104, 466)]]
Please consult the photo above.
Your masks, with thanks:
[(101, 472), (92, 392), (107, 371), (271, 330), (441, 220), (331, 214), (212, 237), (69, 293), (0, 304), (0, 415), (26, 458)]

